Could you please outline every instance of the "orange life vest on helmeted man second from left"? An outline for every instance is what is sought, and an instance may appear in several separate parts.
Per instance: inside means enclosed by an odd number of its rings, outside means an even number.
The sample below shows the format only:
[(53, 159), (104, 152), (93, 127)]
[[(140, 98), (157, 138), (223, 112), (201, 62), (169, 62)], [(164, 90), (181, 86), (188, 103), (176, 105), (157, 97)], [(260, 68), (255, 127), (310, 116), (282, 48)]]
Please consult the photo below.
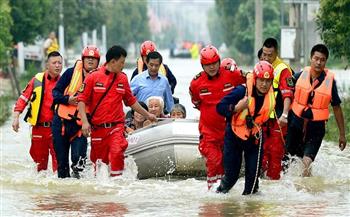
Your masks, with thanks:
[[(83, 62), (81, 60), (78, 60), (75, 63), (72, 78), (66, 90), (64, 91), (64, 95), (74, 96), (80, 89), (82, 83), (83, 83)], [(57, 114), (58, 116), (66, 120), (72, 120), (72, 118), (75, 118), (77, 120), (77, 124), (79, 125), (82, 124), (81, 116), (78, 113), (78, 108), (76, 105), (59, 104), (57, 107)]]

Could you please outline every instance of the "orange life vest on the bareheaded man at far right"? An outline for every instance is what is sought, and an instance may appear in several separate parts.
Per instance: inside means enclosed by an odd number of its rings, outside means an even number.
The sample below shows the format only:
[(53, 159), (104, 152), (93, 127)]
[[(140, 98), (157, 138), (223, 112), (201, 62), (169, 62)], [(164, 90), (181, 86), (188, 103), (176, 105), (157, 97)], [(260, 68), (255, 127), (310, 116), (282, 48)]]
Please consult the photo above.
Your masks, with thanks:
[[(305, 67), (297, 83), (295, 84), (294, 100), (292, 104), (293, 112), (301, 117), (303, 111), (311, 108), (314, 121), (328, 120), (329, 103), (332, 99), (332, 86), (334, 74), (325, 69), (326, 77), (321, 85), (314, 89), (310, 83), (310, 67)], [(310, 93), (314, 91), (312, 104), (308, 103)]]

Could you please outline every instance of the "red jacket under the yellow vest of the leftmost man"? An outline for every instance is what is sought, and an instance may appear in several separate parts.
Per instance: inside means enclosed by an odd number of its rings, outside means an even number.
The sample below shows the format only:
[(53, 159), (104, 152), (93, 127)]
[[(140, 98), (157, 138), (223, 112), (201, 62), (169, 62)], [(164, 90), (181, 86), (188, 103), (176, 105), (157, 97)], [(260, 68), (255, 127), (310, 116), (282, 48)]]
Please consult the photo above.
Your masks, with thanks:
[[(27, 106), (30, 97), (32, 96), (34, 89), (34, 77), (29, 81), (27, 86), (22, 91), (21, 96), (18, 98), (14, 111), (18, 111), (20, 113), (23, 112), (25, 107)], [(56, 83), (59, 79), (59, 76), (56, 78), (51, 78), (48, 72), (45, 72), (45, 85), (44, 85), (44, 98), (41, 104), (41, 110), (38, 117), (38, 123), (42, 122), (51, 122), (53, 118), (53, 110), (51, 109), (53, 103), (52, 89), (56, 86)]]

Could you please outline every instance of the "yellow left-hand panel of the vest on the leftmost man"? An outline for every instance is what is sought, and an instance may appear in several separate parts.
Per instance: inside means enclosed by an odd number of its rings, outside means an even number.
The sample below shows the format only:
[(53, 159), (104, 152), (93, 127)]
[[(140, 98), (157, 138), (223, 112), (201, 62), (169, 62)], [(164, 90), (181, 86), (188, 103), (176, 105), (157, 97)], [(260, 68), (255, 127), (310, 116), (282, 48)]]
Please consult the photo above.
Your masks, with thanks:
[(34, 88), (30, 97), (30, 105), (24, 120), (35, 126), (38, 122), (41, 109), (42, 99), (44, 95), (44, 72), (37, 73), (34, 79)]

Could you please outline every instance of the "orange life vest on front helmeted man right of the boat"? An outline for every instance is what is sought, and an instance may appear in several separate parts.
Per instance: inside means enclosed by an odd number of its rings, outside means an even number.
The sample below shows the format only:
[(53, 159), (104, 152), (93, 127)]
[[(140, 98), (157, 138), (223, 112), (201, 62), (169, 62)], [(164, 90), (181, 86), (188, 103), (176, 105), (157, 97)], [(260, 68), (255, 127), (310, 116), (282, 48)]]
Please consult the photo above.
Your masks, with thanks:
[[(242, 140), (247, 140), (251, 135), (256, 135), (259, 132), (260, 126), (266, 122), (270, 114), (275, 108), (275, 95), (273, 93), (272, 85), (269, 91), (265, 94), (264, 103), (256, 117), (254, 117), (255, 112), (255, 98), (253, 97), (254, 88), (254, 78), (252, 73), (247, 75), (247, 97), (248, 97), (248, 108), (243, 111), (233, 115), (231, 121), (231, 128), (233, 132)], [(242, 99), (243, 100), (243, 99)], [(246, 117), (251, 115), (253, 119), (254, 126), (252, 129), (247, 127)]]

